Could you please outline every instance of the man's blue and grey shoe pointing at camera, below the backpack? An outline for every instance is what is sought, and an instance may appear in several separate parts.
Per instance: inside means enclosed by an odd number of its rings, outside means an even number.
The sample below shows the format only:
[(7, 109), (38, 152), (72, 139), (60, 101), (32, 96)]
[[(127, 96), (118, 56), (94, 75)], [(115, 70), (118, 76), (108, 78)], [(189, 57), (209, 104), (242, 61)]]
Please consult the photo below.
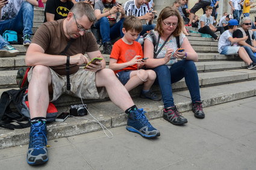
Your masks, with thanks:
[(40, 165), (48, 161), (46, 145), (47, 137), (45, 121), (31, 124), (30, 144), (28, 145), (27, 153), (27, 162), (29, 165)]

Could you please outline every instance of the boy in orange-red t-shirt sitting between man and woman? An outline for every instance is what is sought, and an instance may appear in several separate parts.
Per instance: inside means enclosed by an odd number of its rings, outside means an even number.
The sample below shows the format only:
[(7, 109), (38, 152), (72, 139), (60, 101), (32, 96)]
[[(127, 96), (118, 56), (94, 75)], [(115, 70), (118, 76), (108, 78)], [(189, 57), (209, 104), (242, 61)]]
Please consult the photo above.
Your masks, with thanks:
[(140, 69), (145, 65), (142, 46), (135, 41), (142, 31), (142, 22), (134, 16), (128, 16), (123, 22), (123, 38), (114, 43), (110, 55), (110, 68), (114, 70), (120, 82), (130, 91), (143, 84), (140, 97), (160, 101), (152, 90), (155, 71)]

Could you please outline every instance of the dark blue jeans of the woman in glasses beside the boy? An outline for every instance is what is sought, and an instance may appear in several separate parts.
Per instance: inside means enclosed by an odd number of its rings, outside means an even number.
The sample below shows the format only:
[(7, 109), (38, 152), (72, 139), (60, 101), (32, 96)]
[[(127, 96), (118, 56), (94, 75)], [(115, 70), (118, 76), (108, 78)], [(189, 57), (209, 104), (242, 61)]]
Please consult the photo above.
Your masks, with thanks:
[(180, 81), (183, 77), (185, 77), (186, 85), (189, 88), (192, 103), (201, 101), (198, 72), (192, 60), (183, 59), (178, 61), (170, 69), (166, 65), (160, 65), (153, 70), (157, 74), (157, 82), (163, 97), (164, 108), (174, 106), (172, 83)]

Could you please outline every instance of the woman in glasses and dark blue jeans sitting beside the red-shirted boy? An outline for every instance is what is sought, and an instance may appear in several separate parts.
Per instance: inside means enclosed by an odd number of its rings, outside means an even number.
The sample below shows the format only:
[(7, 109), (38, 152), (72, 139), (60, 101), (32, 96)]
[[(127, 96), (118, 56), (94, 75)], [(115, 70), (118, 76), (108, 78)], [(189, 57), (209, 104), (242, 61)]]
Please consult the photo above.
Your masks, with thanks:
[[(175, 125), (187, 123), (187, 119), (178, 112), (172, 97), (172, 83), (178, 82), (183, 77), (189, 88), (195, 117), (205, 117), (202, 111), (198, 73), (194, 63), (198, 61), (198, 54), (186, 36), (181, 33), (182, 29), (183, 19), (178, 10), (166, 7), (160, 12), (157, 26), (153, 31), (157, 44), (154, 47), (149, 35), (145, 37), (144, 42), (144, 56), (149, 58), (146, 61), (146, 67), (157, 73), (164, 103), (163, 117)], [(178, 49), (179, 44), (184, 50)]]

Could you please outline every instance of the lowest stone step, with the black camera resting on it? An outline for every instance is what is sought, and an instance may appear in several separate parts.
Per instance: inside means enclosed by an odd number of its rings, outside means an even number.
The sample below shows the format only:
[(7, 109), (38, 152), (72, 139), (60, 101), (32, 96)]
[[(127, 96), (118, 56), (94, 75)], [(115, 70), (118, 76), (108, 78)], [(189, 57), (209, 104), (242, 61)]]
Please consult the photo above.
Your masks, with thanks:
[[(255, 96), (256, 80), (246, 82), (231, 83), (226, 85), (217, 85), (214, 87), (201, 88), (201, 100), (203, 106), (213, 106), (220, 103), (231, 102)], [(190, 111), (192, 109), (189, 91), (178, 91), (173, 93), (175, 104), (180, 112)], [(134, 102), (139, 108), (144, 108), (149, 120), (161, 118), (163, 103), (152, 100), (139, 99), (134, 97)], [(121, 111), (112, 102), (89, 103), (87, 108), (90, 113), (99, 120), (105, 127), (111, 130), (111, 127), (124, 126), (127, 121), (126, 114)], [(58, 108), (58, 112), (66, 111), (67, 107)], [(207, 117), (207, 112), (205, 113)], [(82, 133), (95, 132), (102, 130), (98, 123), (83, 119), (90, 115), (78, 118), (67, 118), (63, 123), (48, 123), (48, 139), (57, 139), (67, 136), (79, 135)], [(157, 126), (155, 126), (157, 128)], [(14, 147), (17, 145), (28, 144), (30, 128), (8, 130), (0, 128), (0, 148)]]

